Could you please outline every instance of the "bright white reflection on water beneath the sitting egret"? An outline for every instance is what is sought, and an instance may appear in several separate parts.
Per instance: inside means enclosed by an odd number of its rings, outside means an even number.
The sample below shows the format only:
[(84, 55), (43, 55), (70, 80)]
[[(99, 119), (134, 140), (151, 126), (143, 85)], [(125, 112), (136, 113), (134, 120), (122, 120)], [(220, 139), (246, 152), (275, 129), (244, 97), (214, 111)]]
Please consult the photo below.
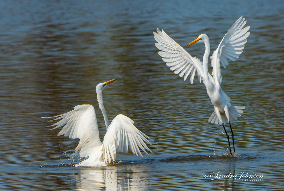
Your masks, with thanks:
[(78, 169), (78, 190), (147, 190), (147, 176), (133, 170), (130, 166)]

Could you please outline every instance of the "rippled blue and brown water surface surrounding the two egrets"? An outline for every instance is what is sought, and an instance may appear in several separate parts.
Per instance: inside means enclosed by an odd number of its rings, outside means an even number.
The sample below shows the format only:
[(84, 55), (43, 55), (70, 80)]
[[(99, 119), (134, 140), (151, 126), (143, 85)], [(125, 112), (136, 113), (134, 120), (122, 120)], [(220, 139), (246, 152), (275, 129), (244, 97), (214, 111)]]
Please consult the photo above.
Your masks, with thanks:
[[(0, 190), (283, 190), (282, 1), (0, 1)], [(169, 11), (170, 10), (170, 11)], [(183, 81), (164, 64), (153, 31), (180, 45), (201, 33), (211, 54), (240, 16), (251, 26), (244, 52), (222, 69), (222, 89), (244, 114), (233, 121), (237, 158), (204, 85)], [(204, 45), (186, 48), (202, 58)], [(209, 68), (209, 70), (211, 70)], [(109, 119), (124, 114), (160, 146), (122, 164), (76, 168), (79, 140), (57, 137), (41, 117), (92, 104), (105, 134), (95, 86)], [(263, 182), (202, 179), (249, 174)], [(213, 189), (212, 189), (213, 188)]]

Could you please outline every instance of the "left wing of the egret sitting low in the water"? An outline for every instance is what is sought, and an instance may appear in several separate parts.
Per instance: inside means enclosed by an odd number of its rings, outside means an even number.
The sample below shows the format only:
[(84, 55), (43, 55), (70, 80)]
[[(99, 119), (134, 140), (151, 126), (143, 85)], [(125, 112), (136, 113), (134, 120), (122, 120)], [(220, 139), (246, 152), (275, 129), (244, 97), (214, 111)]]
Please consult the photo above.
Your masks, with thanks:
[[(74, 107), (74, 110), (54, 117), (57, 118), (52, 121), (61, 120), (49, 127), (56, 125), (56, 127), (52, 128), (56, 129), (64, 125), (57, 136), (64, 135), (69, 136), (69, 138), (80, 138), (79, 144), (75, 149), (75, 151), (78, 151), (82, 148), (80, 157), (88, 157), (92, 146), (101, 145), (99, 144), (101, 142), (96, 113), (92, 105), (78, 105)], [(53, 117), (42, 118), (48, 119)]]

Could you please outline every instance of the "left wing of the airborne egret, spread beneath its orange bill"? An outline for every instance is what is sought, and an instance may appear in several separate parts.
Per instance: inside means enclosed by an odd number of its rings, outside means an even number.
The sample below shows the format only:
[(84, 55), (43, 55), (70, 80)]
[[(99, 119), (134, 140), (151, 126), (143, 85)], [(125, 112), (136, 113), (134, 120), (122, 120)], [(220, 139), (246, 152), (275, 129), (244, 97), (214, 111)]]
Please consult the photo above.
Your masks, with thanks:
[(192, 57), (187, 51), (183, 49), (176, 41), (174, 41), (164, 30), (160, 31), (157, 28), (157, 32), (154, 33), (154, 38), (157, 41), (156, 47), (161, 50), (158, 52), (162, 56), (167, 66), (170, 66), (170, 70), (175, 70), (175, 74), (179, 74), (180, 77), (184, 76), (184, 81), (190, 74), (190, 83), (193, 83), (195, 72), (197, 71), (197, 77), (201, 83), (203, 78), (203, 63), (196, 57)]

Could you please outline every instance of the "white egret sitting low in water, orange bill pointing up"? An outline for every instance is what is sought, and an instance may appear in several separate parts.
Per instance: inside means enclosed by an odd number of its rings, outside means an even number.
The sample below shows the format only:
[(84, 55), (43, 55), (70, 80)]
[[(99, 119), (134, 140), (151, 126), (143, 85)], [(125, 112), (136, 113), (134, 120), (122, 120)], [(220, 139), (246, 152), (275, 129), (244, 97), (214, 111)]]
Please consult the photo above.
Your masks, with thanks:
[[(111, 162), (111, 159), (115, 161), (116, 149), (120, 152), (124, 151), (127, 153), (128, 146), (133, 154), (136, 154), (137, 156), (139, 154), (143, 157), (139, 148), (147, 155), (149, 154), (145, 149), (153, 153), (145, 144), (145, 142), (150, 144), (151, 146), (153, 146), (153, 144), (151, 144), (145, 138), (147, 136), (144, 133), (139, 131), (133, 125), (134, 121), (132, 121), (130, 118), (120, 114), (117, 115), (109, 124), (106, 110), (103, 105), (102, 91), (108, 84), (115, 81), (116, 79), (112, 79), (104, 83), (99, 83), (96, 87), (97, 101), (103, 113), (106, 126), (106, 134), (103, 142), (101, 142), (99, 138), (96, 113), (92, 105), (78, 105), (75, 106), (74, 110), (70, 112), (54, 116), (57, 118), (53, 120), (61, 120), (49, 126), (51, 127), (56, 125), (56, 127), (53, 128), (56, 129), (64, 125), (57, 136), (64, 135), (69, 136), (69, 138), (80, 138), (79, 144), (76, 147), (75, 151), (81, 149), (80, 157), (85, 158), (85, 160), (76, 164), (75, 166), (106, 166)], [(147, 138), (151, 140), (149, 137)]]

